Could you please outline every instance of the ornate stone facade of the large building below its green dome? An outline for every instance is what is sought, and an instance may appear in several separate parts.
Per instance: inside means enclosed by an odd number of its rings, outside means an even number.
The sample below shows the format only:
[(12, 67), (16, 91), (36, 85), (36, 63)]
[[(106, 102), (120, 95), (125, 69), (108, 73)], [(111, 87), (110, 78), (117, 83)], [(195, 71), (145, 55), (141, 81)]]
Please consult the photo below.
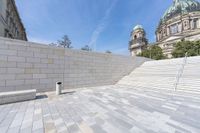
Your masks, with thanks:
[(161, 25), (156, 31), (157, 45), (163, 49), (163, 53), (171, 58), (174, 45), (181, 40), (200, 40), (200, 12), (192, 12), (186, 15), (178, 15)]

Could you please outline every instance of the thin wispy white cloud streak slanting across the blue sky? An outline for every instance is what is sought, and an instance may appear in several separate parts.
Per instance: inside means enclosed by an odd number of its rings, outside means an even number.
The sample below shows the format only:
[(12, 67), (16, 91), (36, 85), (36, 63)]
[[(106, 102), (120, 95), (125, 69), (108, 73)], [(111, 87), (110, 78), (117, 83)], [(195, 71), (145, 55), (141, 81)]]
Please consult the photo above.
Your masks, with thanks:
[(104, 31), (108, 24), (108, 19), (110, 18), (110, 14), (112, 9), (115, 7), (118, 0), (114, 0), (111, 4), (111, 6), (106, 10), (106, 13), (104, 17), (101, 19), (100, 23), (97, 25), (96, 29), (93, 31), (92, 37), (89, 42), (89, 46), (93, 48), (94, 51), (96, 51), (96, 42), (100, 36), (100, 34)]

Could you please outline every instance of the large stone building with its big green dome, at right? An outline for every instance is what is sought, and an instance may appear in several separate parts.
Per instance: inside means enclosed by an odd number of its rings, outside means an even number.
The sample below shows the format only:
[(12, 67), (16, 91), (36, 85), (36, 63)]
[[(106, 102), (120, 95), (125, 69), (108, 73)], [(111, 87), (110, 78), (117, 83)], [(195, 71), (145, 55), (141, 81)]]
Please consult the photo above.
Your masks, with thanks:
[(173, 0), (156, 29), (154, 45), (171, 58), (174, 45), (182, 40), (200, 40), (200, 3), (196, 0)]

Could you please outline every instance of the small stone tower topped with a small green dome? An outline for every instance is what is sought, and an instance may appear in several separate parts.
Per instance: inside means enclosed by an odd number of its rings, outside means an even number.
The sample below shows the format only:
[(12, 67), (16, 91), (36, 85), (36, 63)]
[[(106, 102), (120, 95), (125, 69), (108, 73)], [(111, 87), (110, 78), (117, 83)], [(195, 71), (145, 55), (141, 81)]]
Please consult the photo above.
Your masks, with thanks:
[(136, 25), (131, 32), (131, 38), (129, 42), (129, 50), (132, 56), (136, 56), (147, 48), (147, 39), (144, 28), (141, 25)]

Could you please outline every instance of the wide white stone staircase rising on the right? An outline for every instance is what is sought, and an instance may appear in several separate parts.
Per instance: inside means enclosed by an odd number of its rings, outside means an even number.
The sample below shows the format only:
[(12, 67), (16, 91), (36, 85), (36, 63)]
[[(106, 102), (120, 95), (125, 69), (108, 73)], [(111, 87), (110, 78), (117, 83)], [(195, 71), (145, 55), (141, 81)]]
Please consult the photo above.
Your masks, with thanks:
[(147, 61), (117, 84), (200, 94), (200, 56)]

